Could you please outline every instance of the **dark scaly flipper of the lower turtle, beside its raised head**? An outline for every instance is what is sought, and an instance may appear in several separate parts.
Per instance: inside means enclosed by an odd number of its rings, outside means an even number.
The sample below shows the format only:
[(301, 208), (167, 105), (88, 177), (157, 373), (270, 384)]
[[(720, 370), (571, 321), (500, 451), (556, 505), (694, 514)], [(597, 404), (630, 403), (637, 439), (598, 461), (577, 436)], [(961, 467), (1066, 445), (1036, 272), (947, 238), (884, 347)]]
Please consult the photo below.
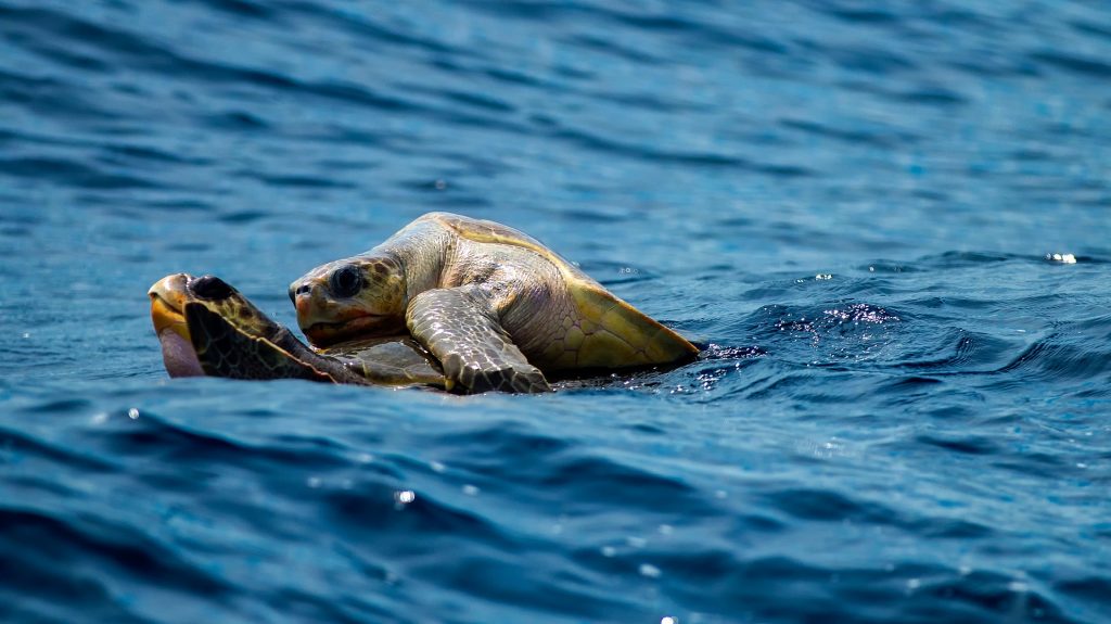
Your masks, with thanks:
[[(329, 383), (366, 383), (336, 360), (313, 353), (274, 325), (273, 335), (252, 335), (204, 305), (184, 306), (189, 334), (204, 373), (212, 376), (274, 380), (304, 379)], [(289, 334), (289, 335), (287, 335)], [(301, 349), (297, 349), (300, 346)], [(290, 349), (297, 353), (291, 353)]]

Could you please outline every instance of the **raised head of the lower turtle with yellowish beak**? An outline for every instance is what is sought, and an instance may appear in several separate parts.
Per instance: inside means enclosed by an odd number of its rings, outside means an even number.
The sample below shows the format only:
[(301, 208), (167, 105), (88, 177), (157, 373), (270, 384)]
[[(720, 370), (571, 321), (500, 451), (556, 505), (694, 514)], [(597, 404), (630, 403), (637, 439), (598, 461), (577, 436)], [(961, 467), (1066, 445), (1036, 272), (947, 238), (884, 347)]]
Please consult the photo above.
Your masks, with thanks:
[[(214, 275), (167, 275), (147, 294), (170, 376), (213, 374), (214, 366), (233, 365), (233, 362), (218, 362), (212, 350), (214, 342), (229, 332), (267, 341), (281, 330), (239, 291)], [(222, 376), (239, 376), (218, 372)]]

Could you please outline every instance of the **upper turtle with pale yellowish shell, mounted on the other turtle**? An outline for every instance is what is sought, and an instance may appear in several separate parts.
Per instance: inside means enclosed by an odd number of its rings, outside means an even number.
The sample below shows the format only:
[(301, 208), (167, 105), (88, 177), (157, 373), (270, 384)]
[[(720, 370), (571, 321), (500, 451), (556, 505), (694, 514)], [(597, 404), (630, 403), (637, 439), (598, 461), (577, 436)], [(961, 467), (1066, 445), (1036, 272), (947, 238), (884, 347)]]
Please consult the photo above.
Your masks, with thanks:
[(544, 372), (678, 362), (698, 349), (536, 239), (432, 212), (290, 285), (316, 345), (408, 328), (473, 392), (550, 390)]

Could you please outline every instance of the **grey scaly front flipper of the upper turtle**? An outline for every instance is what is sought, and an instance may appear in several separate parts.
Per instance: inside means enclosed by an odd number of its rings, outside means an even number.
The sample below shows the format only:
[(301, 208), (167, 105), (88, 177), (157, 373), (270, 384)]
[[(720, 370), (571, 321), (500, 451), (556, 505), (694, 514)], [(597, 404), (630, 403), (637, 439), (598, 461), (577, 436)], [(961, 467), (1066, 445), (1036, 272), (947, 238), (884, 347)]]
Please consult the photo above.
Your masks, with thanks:
[(433, 289), (409, 303), (413, 338), (440, 363), (449, 380), (469, 392), (548, 392), (551, 386), (513, 344), (481, 294), (467, 286)]

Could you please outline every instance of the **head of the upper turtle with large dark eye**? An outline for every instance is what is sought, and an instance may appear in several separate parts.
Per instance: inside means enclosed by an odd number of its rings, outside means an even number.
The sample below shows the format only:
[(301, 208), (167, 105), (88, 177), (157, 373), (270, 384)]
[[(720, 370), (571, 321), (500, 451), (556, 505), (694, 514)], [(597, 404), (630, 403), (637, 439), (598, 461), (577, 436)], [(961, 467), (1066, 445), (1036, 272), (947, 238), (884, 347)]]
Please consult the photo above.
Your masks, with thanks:
[(352, 338), (404, 331), (406, 273), (390, 254), (329, 262), (289, 286), (297, 323), (309, 342), (328, 346)]

